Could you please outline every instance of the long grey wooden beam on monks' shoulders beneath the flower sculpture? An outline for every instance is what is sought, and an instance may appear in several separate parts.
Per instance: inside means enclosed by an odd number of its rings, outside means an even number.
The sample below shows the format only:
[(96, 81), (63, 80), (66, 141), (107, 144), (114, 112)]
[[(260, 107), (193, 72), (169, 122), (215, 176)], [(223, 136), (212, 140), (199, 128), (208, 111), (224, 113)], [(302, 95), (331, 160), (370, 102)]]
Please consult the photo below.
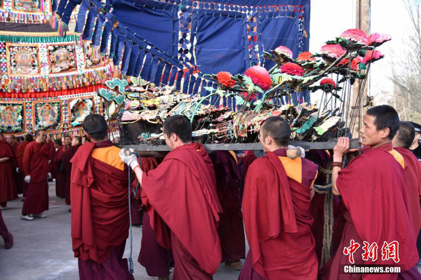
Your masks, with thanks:
[[(306, 141), (290, 141), (289, 144), (293, 146), (303, 147), (305, 150), (331, 150), (335, 147), (335, 141), (331, 142), (306, 142)], [(263, 150), (260, 143), (238, 143), (238, 144), (204, 144), (207, 151), (257, 151)], [(358, 139), (351, 139), (350, 148), (358, 149), (360, 142)], [(162, 157), (170, 151), (166, 145), (152, 145), (152, 144), (139, 144), (139, 145), (124, 145), (120, 148), (133, 149), (137, 152), (142, 152), (144, 157)], [(141, 156), (142, 156), (141, 154)]]

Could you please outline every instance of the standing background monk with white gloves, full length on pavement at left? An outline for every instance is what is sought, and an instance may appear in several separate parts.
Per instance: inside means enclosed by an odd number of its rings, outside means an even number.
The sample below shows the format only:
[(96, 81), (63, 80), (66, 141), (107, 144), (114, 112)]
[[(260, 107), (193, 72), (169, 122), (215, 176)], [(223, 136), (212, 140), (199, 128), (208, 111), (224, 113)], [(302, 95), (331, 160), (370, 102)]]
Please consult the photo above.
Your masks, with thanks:
[(35, 131), (35, 141), (26, 146), (23, 154), (23, 170), (25, 182), (29, 184), (26, 198), (23, 201), (23, 220), (31, 221), (34, 217), (45, 218), (43, 212), (48, 210), (48, 179), (51, 178), (48, 160), (50, 150), (44, 145), (46, 133)]

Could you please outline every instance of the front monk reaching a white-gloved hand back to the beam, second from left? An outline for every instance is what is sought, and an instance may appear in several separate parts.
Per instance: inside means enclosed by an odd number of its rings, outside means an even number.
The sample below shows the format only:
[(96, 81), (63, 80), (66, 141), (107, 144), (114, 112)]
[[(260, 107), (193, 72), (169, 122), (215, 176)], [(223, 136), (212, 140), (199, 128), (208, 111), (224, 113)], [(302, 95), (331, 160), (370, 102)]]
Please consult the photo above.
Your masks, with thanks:
[(127, 156), (124, 149), (120, 157), (140, 182), (159, 244), (172, 249), (173, 279), (211, 280), (221, 260), (217, 225), (222, 212), (212, 161), (201, 144), (192, 143), (192, 126), (185, 117), (171, 116), (162, 128), (171, 152), (157, 168), (143, 172), (136, 156)]

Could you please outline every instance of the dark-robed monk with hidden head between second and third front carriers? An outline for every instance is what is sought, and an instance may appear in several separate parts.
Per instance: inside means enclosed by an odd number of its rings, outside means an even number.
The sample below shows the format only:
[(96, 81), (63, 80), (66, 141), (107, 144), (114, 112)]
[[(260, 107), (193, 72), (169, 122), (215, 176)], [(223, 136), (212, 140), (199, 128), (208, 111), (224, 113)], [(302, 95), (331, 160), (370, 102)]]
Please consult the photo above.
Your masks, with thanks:
[(243, 214), (241, 213), (241, 176), (237, 167), (237, 155), (232, 151), (215, 151), (212, 161), (216, 176), (216, 189), (222, 206), (218, 226), (222, 259), (225, 266), (241, 270), (240, 259), (246, 258)]

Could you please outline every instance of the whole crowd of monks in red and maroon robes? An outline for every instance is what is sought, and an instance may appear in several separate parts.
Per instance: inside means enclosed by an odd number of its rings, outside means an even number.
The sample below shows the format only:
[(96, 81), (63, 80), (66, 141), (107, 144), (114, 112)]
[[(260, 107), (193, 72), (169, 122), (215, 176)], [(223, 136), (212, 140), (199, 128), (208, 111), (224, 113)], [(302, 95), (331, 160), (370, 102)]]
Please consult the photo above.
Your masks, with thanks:
[[(333, 150), (307, 153), (288, 145), (290, 126), (280, 117), (261, 125), (262, 155), (208, 153), (179, 115), (162, 124), (171, 150), (164, 158), (114, 146), (100, 115), (87, 116), (83, 129), (83, 138), (66, 136), (64, 145), (44, 131), (20, 144), (0, 133), (1, 209), (22, 193), (22, 219), (45, 217), (55, 179), (56, 196), (70, 204), (82, 280), (134, 279), (123, 259), (129, 206), (132, 224), (142, 225), (138, 262), (159, 280), (171, 271), (173, 280), (211, 280), (220, 263), (241, 270), (239, 280), (421, 279), (421, 126), (400, 121), (390, 106), (367, 111), (360, 149), (340, 137)], [(315, 184), (329, 184), (334, 195), (328, 260), (329, 196)], [(10, 248), (1, 211), (0, 234)], [(400, 271), (345, 269), (360, 265)]]

